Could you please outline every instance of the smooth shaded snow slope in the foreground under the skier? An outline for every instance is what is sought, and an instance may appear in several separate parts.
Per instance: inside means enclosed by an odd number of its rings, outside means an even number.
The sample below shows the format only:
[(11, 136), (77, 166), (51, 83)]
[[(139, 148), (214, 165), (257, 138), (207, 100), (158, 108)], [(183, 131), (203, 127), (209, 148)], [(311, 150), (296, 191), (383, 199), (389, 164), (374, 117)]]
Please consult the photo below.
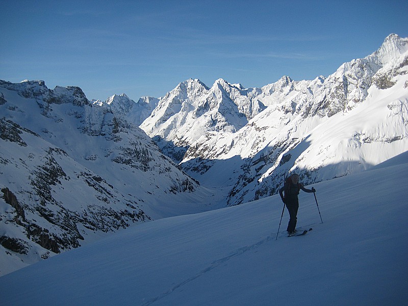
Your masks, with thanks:
[[(279, 196), (151, 221), (0, 278), (4, 305), (402, 305), (405, 153), (299, 195), (302, 237), (275, 240)], [(311, 187), (311, 186), (309, 186)]]

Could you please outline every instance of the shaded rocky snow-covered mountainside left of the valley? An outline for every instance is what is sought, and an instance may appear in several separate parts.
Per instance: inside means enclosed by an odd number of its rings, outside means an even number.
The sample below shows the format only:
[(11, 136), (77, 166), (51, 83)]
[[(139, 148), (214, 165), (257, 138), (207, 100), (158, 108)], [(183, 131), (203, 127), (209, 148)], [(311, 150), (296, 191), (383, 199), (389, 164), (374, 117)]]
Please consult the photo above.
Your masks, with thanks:
[[(117, 98), (115, 111), (148, 105), (125, 109)], [(200, 200), (197, 182), (80, 88), (0, 81), (0, 110), (1, 274), (134, 223), (197, 211), (187, 205), (193, 194)]]

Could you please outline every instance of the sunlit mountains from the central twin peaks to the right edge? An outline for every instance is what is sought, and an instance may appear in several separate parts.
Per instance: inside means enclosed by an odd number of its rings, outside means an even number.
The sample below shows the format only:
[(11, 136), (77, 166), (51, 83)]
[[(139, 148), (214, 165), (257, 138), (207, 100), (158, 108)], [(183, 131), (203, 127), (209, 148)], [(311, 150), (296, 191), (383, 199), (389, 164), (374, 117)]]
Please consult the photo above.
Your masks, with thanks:
[(327, 78), (249, 89), (189, 80), (140, 127), (202, 185), (229, 189), (228, 205), (275, 194), (288, 172), (303, 184), (359, 172), (408, 150), (407, 51), (392, 34)]

